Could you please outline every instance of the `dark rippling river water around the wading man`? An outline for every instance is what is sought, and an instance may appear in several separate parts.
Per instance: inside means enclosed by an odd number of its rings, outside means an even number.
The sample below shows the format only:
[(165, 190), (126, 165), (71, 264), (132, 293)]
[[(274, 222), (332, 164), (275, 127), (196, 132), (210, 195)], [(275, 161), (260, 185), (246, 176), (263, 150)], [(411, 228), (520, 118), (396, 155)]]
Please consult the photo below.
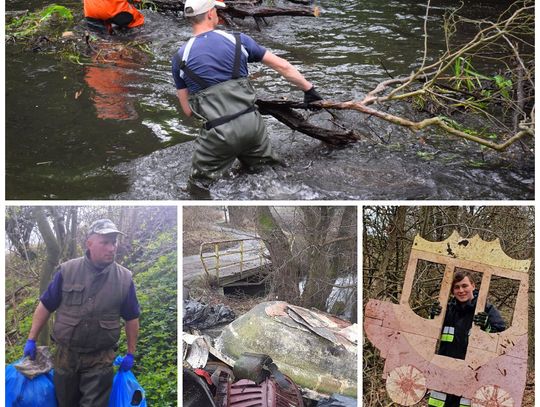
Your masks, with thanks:
[[(433, 1), (429, 40), (443, 48), (441, 21), (454, 1)], [(494, 17), (504, 5), (466, 4), (469, 17)], [(7, 0), (7, 10), (34, 10), (42, 0)], [(62, 2), (80, 7), (78, 2)], [(423, 56), (425, 5), (409, 1), (321, 0), (321, 15), (252, 19), (237, 30), (285, 57), (328, 99), (359, 99), (388, 75), (404, 75)], [(170, 58), (190, 37), (172, 14), (144, 11), (134, 39), (151, 54), (111, 54), (84, 65), (6, 46), (6, 196), (8, 199), (190, 199), (183, 191), (197, 129), (182, 117)], [(82, 23), (75, 29), (83, 31)], [(468, 33), (460, 33), (462, 36)], [(121, 54), (121, 53), (120, 53)], [(83, 61), (88, 62), (88, 61)], [(90, 61), (91, 62), (91, 61)], [(251, 65), (261, 97), (301, 99), (273, 71)], [(407, 107), (400, 108), (406, 112)], [(312, 114), (325, 125), (328, 113)], [(214, 199), (533, 199), (534, 160), (524, 147), (495, 154), (428, 130), (407, 130), (358, 113), (336, 113), (365, 137), (328, 148), (266, 117), (285, 168), (234, 169), (211, 189)]]

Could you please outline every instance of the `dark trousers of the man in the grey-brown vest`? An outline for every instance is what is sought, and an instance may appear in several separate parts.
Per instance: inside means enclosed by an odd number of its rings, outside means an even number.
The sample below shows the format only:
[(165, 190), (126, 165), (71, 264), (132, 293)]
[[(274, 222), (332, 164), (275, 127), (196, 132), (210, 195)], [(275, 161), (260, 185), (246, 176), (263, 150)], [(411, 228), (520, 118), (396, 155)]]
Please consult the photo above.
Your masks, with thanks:
[(114, 371), (112, 349), (79, 353), (58, 346), (54, 387), (59, 407), (107, 407)]

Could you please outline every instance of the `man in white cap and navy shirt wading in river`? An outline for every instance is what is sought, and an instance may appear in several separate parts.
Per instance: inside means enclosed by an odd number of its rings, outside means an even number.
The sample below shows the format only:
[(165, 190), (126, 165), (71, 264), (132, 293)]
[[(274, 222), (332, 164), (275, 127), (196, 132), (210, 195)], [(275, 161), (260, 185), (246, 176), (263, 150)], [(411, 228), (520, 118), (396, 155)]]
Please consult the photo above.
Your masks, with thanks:
[(279, 163), (272, 152), (262, 116), (255, 107), (248, 62), (262, 62), (304, 91), (304, 102), (321, 100), (296, 68), (241, 33), (216, 30), (219, 0), (187, 0), (184, 15), (193, 37), (173, 56), (172, 73), (184, 114), (202, 119), (188, 181), (191, 192), (209, 185), (234, 160), (248, 168)]

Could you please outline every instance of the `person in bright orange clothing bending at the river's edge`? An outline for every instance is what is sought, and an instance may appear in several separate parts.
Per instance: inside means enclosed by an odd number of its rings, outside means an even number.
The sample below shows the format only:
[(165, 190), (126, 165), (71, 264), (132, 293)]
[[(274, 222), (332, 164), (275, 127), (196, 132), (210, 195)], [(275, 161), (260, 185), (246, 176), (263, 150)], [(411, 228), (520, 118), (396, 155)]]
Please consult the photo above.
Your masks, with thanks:
[(112, 32), (112, 24), (121, 28), (144, 24), (144, 15), (127, 0), (84, 0), (84, 17), (90, 25), (105, 27), (109, 33)]

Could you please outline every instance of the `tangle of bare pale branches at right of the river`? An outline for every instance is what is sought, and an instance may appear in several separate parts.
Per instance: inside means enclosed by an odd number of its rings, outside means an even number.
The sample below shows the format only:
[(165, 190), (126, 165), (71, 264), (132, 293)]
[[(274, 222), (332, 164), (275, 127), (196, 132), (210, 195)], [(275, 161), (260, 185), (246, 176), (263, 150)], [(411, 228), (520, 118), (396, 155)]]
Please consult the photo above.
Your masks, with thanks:
[[(429, 12), (429, 3), (427, 9)], [(534, 136), (533, 1), (514, 4), (497, 21), (469, 20), (457, 16), (457, 11), (445, 19), (446, 50), (435, 62), (427, 63), (428, 36), (424, 26), (424, 57), (421, 66), (409, 76), (381, 82), (360, 101), (323, 101), (318, 105), (357, 110), (412, 130), (439, 127), (497, 151), (527, 135)], [(476, 35), (464, 44), (453, 44), (454, 34), (464, 25), (474, 25)], [(480, 73), (476, 66), (486, 62), (499, 72)], [(412, 102), (431, 117), (414, 121), (376, 107), (400, 100)], [(483, 124), (502, 134), (485, 128), (470, 129), (448, 117), (464, 110), (481, 115)]]

